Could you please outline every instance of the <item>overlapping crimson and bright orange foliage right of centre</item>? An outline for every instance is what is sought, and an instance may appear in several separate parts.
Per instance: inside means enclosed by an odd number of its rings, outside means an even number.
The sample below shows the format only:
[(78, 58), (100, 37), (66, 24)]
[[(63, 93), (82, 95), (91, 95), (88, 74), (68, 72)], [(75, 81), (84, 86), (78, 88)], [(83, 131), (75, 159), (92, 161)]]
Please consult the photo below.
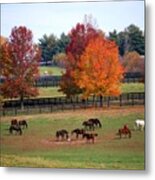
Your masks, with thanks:
[(66, 73), (61, 91), (67, 96), (118, 95), (123, 68), (117, 45), (91, 24), (77, 24), (69, 34)]

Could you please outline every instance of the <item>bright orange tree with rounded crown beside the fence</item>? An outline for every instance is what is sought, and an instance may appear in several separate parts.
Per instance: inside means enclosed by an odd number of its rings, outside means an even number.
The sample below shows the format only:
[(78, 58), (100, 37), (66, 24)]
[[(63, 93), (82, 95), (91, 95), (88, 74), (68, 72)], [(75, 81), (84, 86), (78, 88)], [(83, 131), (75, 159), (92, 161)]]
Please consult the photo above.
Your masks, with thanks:
[(91, 39), (78, 61), (78, 68), (72, 72), (83, 97), (120, 94), (120, 80), (123, 68), (119, 61), (117, 45), (104, 36)]

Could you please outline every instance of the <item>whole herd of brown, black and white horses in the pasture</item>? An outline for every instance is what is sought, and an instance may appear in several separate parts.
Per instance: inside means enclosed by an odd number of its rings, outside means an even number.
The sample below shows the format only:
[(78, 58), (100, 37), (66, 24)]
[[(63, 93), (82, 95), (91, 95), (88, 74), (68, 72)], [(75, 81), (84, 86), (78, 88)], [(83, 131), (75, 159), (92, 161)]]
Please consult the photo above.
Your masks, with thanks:
[[(96, 128), (102, 128), (101, 121), (97, 118), (91, 118), (87, 121), (84, 121), (82, 123), (83, 128), (76, 128), (71, 131), (71, 134), (69, 135), (69, 132), (66, 129), (61, 129), (56, 131), (55, 137), (56, 141), (71, 141), (70, 137), (75, 136), (76, 139), (79, 139), (81, 137), (82, 139), (86, 139), (86, 142), (95, 142), (95, 138), (98, 136), (98, 134), (95, 132)], [(135, 129), (143, 130), (145, 126), (144, 120), (136, 120), (135, 121)], [(19, 134), (22, 135), (22, 131), (24, 128), (28, 128), (28, 123), (26, 120), (17, 120), (12, 119), (11, 125), (9, 127), (10, 134)], [(127, 124), (125, 124), (122, 128), (118, 129), (117, 135), (119, 135), (120, 138), (127, 137), (131, 138), (131, 130), (128, 127)]]

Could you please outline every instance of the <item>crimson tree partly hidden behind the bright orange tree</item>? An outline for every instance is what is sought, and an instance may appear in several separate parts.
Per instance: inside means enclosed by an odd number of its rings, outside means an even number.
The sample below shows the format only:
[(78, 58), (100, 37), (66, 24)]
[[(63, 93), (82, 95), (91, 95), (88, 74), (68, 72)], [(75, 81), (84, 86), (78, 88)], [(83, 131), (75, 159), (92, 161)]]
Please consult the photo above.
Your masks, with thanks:
[(66, 72), (62, 76), (60, 91), (68, 97), (81, 93), (81, 89), (75, 84), (72, 72), (78, 68), (78, 61), (84, 52), (88, 42), (94, 39), (100, 32), (90, 23), (77, 23), (69, 33), (70, 43), (66, 47)]

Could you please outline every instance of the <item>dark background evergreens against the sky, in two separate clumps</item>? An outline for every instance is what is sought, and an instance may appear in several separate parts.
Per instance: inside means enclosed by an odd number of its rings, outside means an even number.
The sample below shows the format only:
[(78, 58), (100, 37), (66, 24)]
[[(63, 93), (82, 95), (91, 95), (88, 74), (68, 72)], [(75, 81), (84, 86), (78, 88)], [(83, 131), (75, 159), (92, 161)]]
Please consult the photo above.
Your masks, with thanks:
[[(134, 24), (129, 25), (123, 31), (113, 30), (109, 32), (108, 39), (115, 41), (119, 48), (119, 55), (124, 56), (128, 52), (137, 52), (145, 55), (144, 32)], [(64, 66), (63, 59), (66, 55), (66, 47), (70, 43), (70, 36), (62, 33), (60, 38), (54, 34), (44, 34), (39, 39), (39, 47), (42, 50), (42, 61), (46, 65), (50, 62), (53, 65)]]

